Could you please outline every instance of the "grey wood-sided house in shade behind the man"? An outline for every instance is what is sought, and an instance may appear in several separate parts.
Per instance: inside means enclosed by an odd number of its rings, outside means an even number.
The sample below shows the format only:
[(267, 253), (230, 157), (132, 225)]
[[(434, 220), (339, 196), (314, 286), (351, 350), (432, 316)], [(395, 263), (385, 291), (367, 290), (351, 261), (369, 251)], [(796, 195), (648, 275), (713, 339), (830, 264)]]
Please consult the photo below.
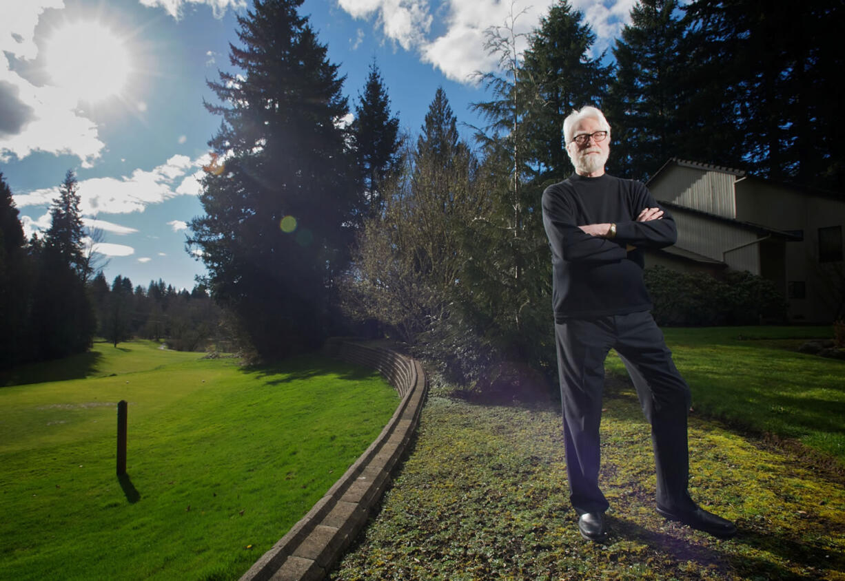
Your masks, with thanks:
[(677, 158), (647, 186), (672, 213), (678, 243), (649, 252), (646, 268), (748, 270), (777, 285), (794, 323), (845, 314), (845, 195)]

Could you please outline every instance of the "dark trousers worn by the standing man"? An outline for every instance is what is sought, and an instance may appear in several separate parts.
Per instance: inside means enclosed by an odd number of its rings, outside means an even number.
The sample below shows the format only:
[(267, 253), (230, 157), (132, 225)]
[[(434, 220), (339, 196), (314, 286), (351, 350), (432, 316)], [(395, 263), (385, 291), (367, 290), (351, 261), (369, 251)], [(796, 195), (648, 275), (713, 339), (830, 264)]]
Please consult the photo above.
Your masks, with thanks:
[(695, 508), (687, 492), (690, 388), (675, 367), (651, 313), (571, 318), (555, 323), (554, 330), (566, 472), (575, 510), (583, 514), (608, 509), (608, 501), (598, 486), (598, 428), (602, 420), (604, 360), (611, 348), (622, 358), (651, 424), (657, 505), (669, 510)]

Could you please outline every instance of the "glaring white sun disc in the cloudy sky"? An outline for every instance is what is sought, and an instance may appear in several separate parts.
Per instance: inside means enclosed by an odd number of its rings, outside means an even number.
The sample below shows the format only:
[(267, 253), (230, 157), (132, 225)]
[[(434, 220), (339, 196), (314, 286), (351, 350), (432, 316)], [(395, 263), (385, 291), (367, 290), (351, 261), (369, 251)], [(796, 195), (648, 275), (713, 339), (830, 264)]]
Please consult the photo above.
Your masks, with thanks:
[(131, 62), (123, 41), (96, 21), (64, 24), (46, 44), (52, 84), (78, 100), (105, 100), (126, 84)]

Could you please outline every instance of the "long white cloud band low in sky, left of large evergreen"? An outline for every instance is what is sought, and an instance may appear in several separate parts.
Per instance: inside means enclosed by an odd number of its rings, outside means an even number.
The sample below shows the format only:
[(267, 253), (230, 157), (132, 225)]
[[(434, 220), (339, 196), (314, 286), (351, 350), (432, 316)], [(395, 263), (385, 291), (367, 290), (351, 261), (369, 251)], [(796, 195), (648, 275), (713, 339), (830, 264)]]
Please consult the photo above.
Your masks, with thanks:
[[(84, 215), (143, 212), (150, 204), (161, 204), (180, 195), (199, 193), (199, 168), (209, 156), (191, 160), (173, 155), (151, 171), (137, 169), (131, 176), (92, 177), (79, 182), (79, 211)], [(178, 185), (177, 185), (178, 184)], [(48, 205), (58, 196), (58, 187), (46, 187), (14, 196), (18, 208)]]

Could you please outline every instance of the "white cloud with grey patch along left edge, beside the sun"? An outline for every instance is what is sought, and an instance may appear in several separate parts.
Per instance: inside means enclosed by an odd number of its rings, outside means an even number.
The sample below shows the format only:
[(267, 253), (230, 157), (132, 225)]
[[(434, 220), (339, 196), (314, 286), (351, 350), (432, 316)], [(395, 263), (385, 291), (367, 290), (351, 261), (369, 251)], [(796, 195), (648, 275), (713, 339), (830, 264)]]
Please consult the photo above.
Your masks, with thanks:
[(77, 111), (68, 91), (36, 86), (12, 70), (9, 59), (38, 56), (35, 25), (41, 13), (63, 7), (63, 0), (33, 0), (0, 10), (0, 161), (44, 151), (76, 155), (83, 167), (90, 167), (105, 147), (94, 122)]

